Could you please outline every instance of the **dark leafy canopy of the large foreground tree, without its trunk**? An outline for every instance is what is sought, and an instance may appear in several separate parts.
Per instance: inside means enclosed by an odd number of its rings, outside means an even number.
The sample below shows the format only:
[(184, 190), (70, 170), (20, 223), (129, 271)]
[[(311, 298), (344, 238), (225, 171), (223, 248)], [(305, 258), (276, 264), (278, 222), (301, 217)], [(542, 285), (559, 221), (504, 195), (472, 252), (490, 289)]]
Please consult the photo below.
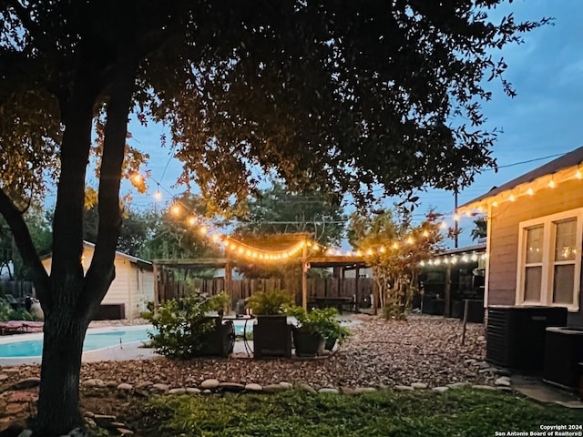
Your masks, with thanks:
[(257, 188), (251, 168), (357, 198), (463, 187), (494, 165), (480, 110), (506, 69), (494, 50), (540, 25), (490, 21), (498, 3), (5, 1), (3, 189), (38, 192), (76, 75), (93, 72), (107, 107), (122, 62), (138, 119), (169, 124), (183, 181), (221, 206)]

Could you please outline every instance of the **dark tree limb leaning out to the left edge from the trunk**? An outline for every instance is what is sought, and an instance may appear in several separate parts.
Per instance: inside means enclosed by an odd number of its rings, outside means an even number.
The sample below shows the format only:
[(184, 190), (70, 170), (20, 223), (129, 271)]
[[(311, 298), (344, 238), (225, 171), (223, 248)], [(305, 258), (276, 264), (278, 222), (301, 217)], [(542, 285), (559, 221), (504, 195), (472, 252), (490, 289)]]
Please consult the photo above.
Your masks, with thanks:
[(37, 296), (43, 298), (50, 287), (49, 278), (43, 263), (40, 262), (36, 254), (35, 244), (30, 237), (30, 232), (26, 226), (20, 209), (16, 208), (14, 202), (0, 189), (0, 214), (2, 214), (15, 238), (16, 247), (26, 266), (31, 269), (35, 282)]

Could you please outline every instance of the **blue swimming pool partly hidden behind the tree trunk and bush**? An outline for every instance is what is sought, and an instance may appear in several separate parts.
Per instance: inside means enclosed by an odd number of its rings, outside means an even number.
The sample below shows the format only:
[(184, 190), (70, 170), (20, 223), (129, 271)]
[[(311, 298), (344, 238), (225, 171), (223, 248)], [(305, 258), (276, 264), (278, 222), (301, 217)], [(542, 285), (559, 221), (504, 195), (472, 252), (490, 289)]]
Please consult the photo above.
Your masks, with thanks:
[[(243, 334), (244, 323), (239, 320), (234, 321), (235, 333)], [(123, 346), (128, 343), (138, 341), (148, 341), (148, 332), (152, 332), (152, 326), (132, 326), (118, 328), (100, 328), (96, 330), (87, 330), (83, 351), (98, 351), (101, 349)], [(251, 332), (252, 328), (247, 327)], [(43, 337), (42, 334), (22, 334), (30, 340), (20, 340), (21, 334), (10, 336), (8, 341), (0, 343), (0, 359), (2, 358), (40, 358), (43, 354)]]

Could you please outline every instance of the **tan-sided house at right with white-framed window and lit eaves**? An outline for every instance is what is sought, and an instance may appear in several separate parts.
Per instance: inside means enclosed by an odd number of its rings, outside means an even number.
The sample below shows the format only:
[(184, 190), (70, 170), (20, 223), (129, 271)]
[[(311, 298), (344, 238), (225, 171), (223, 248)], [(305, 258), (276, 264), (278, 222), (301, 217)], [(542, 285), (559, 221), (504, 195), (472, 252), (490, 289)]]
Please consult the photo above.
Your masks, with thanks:
[(568, 308), (583, 325), (583, 147), (462, 205), (487, 213), (485, 306)]

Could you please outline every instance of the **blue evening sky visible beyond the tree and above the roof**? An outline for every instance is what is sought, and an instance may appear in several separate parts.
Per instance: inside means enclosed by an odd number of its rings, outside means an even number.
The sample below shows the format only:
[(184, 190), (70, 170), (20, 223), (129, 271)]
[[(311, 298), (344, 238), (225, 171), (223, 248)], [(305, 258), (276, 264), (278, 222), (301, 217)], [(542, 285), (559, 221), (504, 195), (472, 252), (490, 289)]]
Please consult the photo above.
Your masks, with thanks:
[[(583, 145), (583, 1), (517, 0), (496, 15), (506, 11), (513, 11), (517, 21), (552, 16), (555, 22), (525, 35), (524, 44), (506, 46), (499, 52), (508, 64), (505, 77), (517, 90), (517, 97), (506, 97), (499, 82), (493, 82), (494, 98), (484, 104), (487, 126), (502, 130), (493, 149), (500, 169), (479, 175), (460, 193), (460, 205), (553, 159), (545, 157)], [(180, 164), (171, 158), (168, 147), (159, 147), (164, 127), (144, 128), (132, 123), (129, 131), (133, 136), (130, 143), (151, 156), (147, 168), (152, 178), (163, 188), (170, 188), (179, 176)], [(521, 162), (525, 163), (517, 164)], [(137, 207), (152, 205), (156, 184), (150, 181), (149, 185), (149, 195), (134, 194)], [(429, 190), (420, 197), (419, 214), (428, 208), (453, 214), (452, 193)], [(472, 225), (471, 221), (462, 221), (465, 231), (460, 246), (473, 244), (469, 237)]]

